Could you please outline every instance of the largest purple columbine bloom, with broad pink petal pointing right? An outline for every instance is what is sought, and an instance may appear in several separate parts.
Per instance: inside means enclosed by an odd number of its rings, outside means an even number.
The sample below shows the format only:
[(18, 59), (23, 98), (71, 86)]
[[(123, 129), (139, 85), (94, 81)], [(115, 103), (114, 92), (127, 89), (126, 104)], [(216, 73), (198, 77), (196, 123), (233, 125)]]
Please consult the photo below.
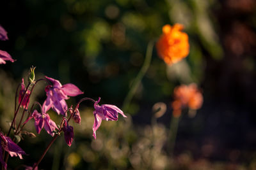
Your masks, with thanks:
[(47, 76), (45, 76), (45, 78), (51, 81), (52, 85), (45, 87), (47, 99), (44, 102), (44, 112), (52, 108), (52, 110), (56, 111), (58, 114), (61, 113), (61, 115), (64, 115), (67, 110), (67, 103), (65, 100), (68, 99), (68, 96), (77, 96), (79, 94), (83, 94), (83, 92), (72, 83), (61, 85), (58, 80)]

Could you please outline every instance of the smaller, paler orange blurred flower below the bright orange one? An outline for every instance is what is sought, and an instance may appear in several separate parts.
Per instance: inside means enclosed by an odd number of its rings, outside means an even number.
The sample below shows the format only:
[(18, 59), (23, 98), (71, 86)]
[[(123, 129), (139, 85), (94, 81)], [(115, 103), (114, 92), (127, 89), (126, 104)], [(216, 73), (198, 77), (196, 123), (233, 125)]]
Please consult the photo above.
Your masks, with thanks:
[(180, 85), (174, 89), (174, 101), (172, 102), (173, 116), (179, 117), (182, 107), (198, 110), (203, 104), (202, 93), (195, 83)]

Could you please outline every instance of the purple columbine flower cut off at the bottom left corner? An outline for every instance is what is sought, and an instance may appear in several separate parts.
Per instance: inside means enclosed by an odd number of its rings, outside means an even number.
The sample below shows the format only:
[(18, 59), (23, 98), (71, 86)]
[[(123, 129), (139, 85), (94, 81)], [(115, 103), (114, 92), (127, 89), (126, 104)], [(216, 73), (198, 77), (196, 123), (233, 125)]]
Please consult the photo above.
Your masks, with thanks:
[(16, 143), (12, 141), (11, 138), (4, 136), (1, 132), (0, 132), (0, 143), (1, 143), (0, 162), (5, 169), (7, 169), (7, 164), (3, 160), (3, 150), (8, 152), (11, 155), (11, 157), (19, 156), (20, 159), (22, 159), (22, 155), (26, 154), (24, 150), (20, 148), (20, 146), (18, 146)]

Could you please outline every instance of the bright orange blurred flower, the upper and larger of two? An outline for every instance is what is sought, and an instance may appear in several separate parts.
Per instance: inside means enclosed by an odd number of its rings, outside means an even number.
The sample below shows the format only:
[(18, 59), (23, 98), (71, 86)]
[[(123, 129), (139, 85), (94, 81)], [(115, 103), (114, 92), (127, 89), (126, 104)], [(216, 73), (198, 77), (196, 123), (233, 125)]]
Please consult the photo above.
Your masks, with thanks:
[(157, 53), (166, 64), (179, 62), (188, 56), (188, 34), (181, 32), (183, 25), (163, 26), (163, 34), (156, 43)]

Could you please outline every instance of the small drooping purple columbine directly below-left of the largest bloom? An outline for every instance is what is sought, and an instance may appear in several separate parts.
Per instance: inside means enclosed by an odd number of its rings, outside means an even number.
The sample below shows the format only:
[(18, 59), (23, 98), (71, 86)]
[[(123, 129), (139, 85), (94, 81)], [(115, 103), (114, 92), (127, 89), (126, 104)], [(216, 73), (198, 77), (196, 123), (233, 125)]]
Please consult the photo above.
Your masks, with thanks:
[[(50, 116), (47, 113), (38, 113), (37, 110), (34, 110), (34, 112), (32, 113), (31, 117), (28, 118), (28, 120), (30, 120), (31, 118), (35, 119), (36, 132), (38, 134), (40, 134), (41, 130), (44, 127), (47, 133), (49, 133), (51, 136), (54, 136), (54, 133), (52, 131), (54, 131), (55, 129), (58, 129), (58, 127), (55, 124), (55, 122), (51, 120)], [(28, 122), (28, 120), (26, 122)], [(24, 124), (26, 122), (24, 122)]]

